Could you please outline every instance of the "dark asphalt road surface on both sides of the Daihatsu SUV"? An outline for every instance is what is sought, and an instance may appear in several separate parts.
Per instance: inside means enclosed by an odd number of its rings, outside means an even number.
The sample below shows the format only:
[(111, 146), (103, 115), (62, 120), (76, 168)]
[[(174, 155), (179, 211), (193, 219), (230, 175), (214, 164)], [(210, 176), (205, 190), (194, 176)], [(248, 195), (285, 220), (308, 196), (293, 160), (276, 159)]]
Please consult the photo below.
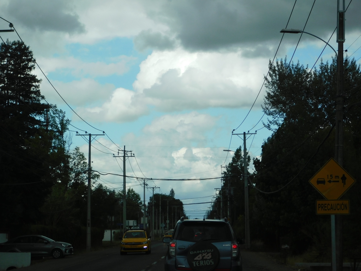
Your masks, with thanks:
[[(63, 259), (48, 259), (32, 261), (29, 267), (22, 271), (164, 271), (164, 256), (168, 244), (152, 243), (152, 253), (129, 253), (120, 255), (119, 247), (100, 251), (92, 251)], [(243, 271), (293, 271), (295, 267), (276, 263), (271, 257), (263, 253), (241, 251)]]

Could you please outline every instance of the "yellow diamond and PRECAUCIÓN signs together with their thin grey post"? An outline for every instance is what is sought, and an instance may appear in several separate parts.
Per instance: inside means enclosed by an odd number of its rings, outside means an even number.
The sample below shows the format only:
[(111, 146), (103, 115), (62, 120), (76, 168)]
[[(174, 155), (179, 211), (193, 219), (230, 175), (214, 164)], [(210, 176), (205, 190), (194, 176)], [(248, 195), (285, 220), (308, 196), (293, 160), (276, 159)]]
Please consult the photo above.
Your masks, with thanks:
[(309, 183), (327, 200), (316, 201), (317, 215), (331, 215), (332, 270), (336, 270), (336, 222), (335, 215), (350, 214), (348, 199), (339, 199), (355, 184), (351, 177), (333, 158), (331, 158), (310, 180)]

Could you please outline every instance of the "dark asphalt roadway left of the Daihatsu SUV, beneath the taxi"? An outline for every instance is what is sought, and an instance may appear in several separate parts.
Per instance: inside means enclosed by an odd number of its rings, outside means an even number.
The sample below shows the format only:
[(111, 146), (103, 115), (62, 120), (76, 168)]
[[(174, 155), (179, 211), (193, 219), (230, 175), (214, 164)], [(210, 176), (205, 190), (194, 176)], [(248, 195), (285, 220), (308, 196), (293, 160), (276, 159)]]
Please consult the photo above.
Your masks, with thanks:
[(48, 259), (21, 268), (22, 271), (163, 271), (168, 244), (152, 242), (152, 253), (120, 255), (119, 247), (93, 251), (62, 259)]

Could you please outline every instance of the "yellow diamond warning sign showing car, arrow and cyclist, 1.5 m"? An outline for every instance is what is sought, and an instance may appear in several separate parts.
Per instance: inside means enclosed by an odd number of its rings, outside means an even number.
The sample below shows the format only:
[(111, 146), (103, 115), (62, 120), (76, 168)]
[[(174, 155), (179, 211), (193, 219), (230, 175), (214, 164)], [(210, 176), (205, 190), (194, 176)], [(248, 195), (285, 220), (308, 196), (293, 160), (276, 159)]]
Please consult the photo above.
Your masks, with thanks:
[(355, 179), (331, 158), (309, 182), (326, 199), (339, 199), (355, 183)]

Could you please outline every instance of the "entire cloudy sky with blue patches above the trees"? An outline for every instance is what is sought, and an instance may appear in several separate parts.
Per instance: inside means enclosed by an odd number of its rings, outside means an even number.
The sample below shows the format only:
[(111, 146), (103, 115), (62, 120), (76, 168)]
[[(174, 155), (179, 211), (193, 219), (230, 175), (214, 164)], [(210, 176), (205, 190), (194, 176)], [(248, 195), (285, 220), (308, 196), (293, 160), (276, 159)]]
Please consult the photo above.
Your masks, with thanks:
[[(94, 170), (122, 175), (122, 161), (113, 154), (125, 146), (135, 154), (126, 161), (126, 175), (210, 178), (220, 177), (221, 165), (231, 160), (232, 152), (227, 156), (223, 150), (235, 151), (243, 144), (243, 136), (231, 137), (233, 129), (258, 130), (246, 146), (251, 158), (261, 158), (262, 143), (272, 134), (261, 129), (266, 116), (258, 122), (266, 93), (262, 83), (294, 4), (293, 0), (4, 0), (0, 16), (14, 24), (64, 100), (111, 139), (98, 136), (102, 145), (92, 142)], [(355, 59), (361, 57), (360, 8), (360, 1), (352, 1), (346, 13), (344, 48)], [(336, 27), (336, 0), (296, 1), (287, 28), (304, 26), (329, 40)], [(8, 23), (1, 21), (0, 29), (8, 29)], [(291, 59), (299, 36), (284, 35), (277, 59), (286, 55)], [(16, 33), (1, 37), (18, 39)], [(337, 48), (335, 35), (330, 44)], [(293, 61), (312, 67), (324, 45), (303, 34)], [(326, 62), (333, 56), (327, 47), (321, 58)], [(34, 73), (43, 80), (45, 99), (66, 111), (76, 127), (70, 130), (99, 133), (71, 111), (38, 68)], [(71, 148), (79, 146), (87, 157), (86, 140), (69, 133)], [(106, 175), (99, 183), (120, 191), (122, 181), (120, 176)], [(152, 186), (164, 194), (173, 188), (183, 203), (210, 202), (221, 180), (148, 181)], [(139, 181), (127, 178), (126, 187), (143, 199)], [(146, 200), (150, 196), (151, 189), (146, 189)], [(209, 206), (186, 205), (185, 210), (191, 218), (202, 218)]]

